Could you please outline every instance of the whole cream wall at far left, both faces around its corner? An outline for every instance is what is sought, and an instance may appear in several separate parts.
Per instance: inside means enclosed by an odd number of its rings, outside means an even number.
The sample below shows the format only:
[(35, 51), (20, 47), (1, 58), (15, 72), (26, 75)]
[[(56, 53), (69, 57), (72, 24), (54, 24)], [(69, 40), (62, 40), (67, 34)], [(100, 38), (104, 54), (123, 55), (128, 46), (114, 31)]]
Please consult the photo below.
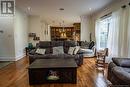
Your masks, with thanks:
[(0, 60), (16, 61), (25, 55), (27, 46), (27, 15), (16, 9), (14, 16), (0, 16)]

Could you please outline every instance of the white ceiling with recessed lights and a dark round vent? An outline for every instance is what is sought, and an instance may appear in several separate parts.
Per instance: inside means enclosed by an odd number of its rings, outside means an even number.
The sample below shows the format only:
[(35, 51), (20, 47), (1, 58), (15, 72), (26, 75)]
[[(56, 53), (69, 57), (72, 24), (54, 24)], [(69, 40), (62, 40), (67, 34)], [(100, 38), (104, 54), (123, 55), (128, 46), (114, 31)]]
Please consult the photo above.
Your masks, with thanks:
[(56, 26), (63, 20), (66, 25), (80, 22), (80, 16), (92, 14), (112, 1), (115, 0), (16, 0), (16, 6), (30, 15), (40, 15), (47, 23)]

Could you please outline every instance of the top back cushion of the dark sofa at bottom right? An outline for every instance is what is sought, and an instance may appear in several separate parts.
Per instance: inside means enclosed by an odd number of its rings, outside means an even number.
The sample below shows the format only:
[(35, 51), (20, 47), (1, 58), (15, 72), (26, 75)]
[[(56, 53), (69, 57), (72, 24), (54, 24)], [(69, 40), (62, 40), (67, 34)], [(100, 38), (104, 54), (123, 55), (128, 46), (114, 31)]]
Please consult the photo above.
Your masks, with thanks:
[(112, 58), (113, 62), (122, 67), (130, 67), (130, 58)]

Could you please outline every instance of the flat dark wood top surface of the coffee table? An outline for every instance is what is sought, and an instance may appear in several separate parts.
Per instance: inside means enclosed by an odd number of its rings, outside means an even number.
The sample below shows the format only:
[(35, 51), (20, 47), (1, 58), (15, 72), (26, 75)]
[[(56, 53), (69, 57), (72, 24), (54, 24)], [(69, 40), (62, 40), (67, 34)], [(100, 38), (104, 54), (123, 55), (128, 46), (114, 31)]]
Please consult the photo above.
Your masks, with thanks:
[(38, 68), (76, 68), (74, 59), (36, 59), (29, 69)]

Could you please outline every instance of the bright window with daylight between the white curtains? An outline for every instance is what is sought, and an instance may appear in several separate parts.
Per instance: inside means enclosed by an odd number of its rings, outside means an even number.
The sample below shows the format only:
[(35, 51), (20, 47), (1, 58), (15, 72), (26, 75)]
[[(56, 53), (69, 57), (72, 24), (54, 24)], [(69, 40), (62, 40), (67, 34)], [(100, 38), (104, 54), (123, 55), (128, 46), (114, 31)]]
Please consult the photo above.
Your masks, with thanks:
[(106, 48), (107, 47), (107, 40), (108, 40), (108, 33), (111, 23), (111, 17), (107, 17), (105, 19), (102, 19), (100, 21), (100, 30), (99, 30), (99, 45), (100, 48)]

